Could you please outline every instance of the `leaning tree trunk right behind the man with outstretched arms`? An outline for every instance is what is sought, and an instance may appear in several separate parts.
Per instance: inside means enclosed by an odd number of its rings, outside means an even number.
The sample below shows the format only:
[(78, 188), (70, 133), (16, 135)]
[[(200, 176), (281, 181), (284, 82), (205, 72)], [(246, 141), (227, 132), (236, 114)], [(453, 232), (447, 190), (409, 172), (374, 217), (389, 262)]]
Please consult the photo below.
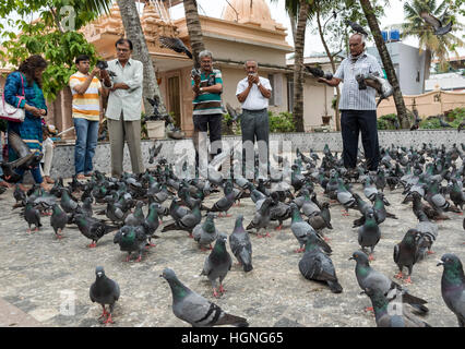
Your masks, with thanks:
[(397, 110), (397, 118), (403, 129), (408, 129), (410, 123), (408, 121), (407, 109), (405, 108), (404, 98), (402, 97), (401, 86), (395, 74), (394, 65), (389, 55), (388, 48), (381, 35), (380, 26), (377, 22), (373, 8), (370, 0), (360, 0), (361, 8), (363, 9), (365, 16), (367, 17), (368, 25), (370, 26), (371, 34), (373, 35), (374, 43), (377, 44), (378, 51), (384, 65), (388, 80), (394, 88), (394, 103)]

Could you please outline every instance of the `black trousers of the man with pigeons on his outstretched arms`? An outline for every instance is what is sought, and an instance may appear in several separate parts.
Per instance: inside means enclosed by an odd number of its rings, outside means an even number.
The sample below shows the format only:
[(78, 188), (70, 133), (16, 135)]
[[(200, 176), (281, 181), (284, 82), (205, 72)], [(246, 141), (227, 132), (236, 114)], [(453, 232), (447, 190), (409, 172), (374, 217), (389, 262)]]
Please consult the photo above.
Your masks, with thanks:
[(375, 110), (341, 110), (341, 130), (343, 135), (343, 158), (346, 168), (357, 165), (358, 134), (361, 132), (367, 167), (370, 171), (378, 169), (380, 145)]

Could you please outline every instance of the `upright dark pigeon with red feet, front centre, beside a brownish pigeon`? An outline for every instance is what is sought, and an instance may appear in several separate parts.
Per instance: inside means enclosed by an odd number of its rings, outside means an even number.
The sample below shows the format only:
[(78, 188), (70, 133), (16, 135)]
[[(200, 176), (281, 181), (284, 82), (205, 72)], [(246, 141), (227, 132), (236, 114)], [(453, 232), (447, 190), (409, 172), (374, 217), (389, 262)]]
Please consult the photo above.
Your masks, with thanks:
[(233, 261), (228, 251), (226, 251), (226, 239), (227, 236), (222, 232), (216, 239), (215, 246), (213, 248), (210, 255), (205, 258), (203, 264), (203, 270), (200, 275), (206, 275), (208, 280), (212, 282), (213, 296), (218, 297), (216, 291), (217, 282), (219, 279), (219, 289), (220, 293), (226, 292), (223, 288), (223, 280), (231, 268)]

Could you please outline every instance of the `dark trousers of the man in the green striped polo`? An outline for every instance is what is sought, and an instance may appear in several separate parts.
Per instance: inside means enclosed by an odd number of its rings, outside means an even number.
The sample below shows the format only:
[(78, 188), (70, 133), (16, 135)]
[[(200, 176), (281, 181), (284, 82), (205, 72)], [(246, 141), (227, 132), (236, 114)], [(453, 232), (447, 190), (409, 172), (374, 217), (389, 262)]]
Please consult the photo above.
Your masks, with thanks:
[[(194, 133), (193, 133), (193, 144), (195, 148), (195, 167), (199, 167), (199, 147), (205, 147), (203, 144), (199, 144), (199, 133), (206, 132), (210, 133), (210, 144), (211, 144), (211, 155), (214, 157), (215, 155), (222, 153), (222, 118), (220, 113), (213, 115), (202, 115), (202, 116), (193, 116), (193, 124), (194, 124)], [(200, 136), (202, 139), (202, 136)]]

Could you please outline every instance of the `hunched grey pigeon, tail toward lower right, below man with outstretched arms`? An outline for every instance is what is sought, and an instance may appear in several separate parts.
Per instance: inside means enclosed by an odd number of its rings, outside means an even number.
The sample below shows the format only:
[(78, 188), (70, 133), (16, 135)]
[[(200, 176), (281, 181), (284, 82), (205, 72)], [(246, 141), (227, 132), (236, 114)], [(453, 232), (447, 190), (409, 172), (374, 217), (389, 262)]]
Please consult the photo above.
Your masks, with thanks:
[(306, 252), (299, 261), (299, 270), (306, 279), (324, 281), (333, 293), (341, 293), (343, 287), (337, 281), (333, 261), (321, 251), (317, 234), (309, 234)]

